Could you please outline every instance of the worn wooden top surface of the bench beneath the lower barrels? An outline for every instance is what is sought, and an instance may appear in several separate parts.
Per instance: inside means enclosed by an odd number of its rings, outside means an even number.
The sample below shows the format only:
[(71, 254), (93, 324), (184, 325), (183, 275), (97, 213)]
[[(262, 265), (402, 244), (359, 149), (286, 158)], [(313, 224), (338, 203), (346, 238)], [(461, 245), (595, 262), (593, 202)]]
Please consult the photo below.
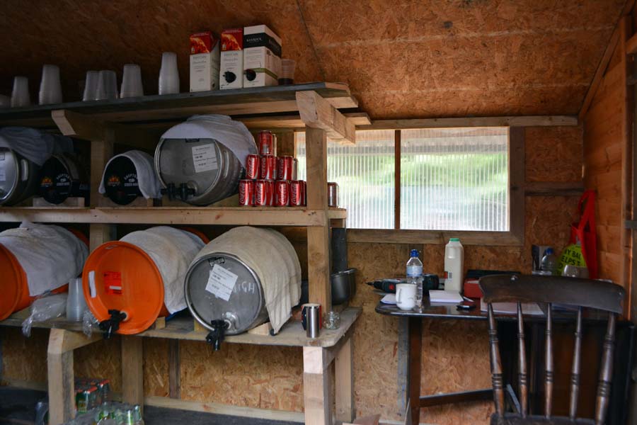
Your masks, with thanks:
[[(360, 307), (348, 307), (340, 312), (340, 327), (338, 329), (321, 329), (319, 338), (310, 339), (305, 335), (301, 322), (290, 320), (275, 336), (255, 335), (244, 332), (239, 335), (227, 335), (224, 344), (253, 344), (272, 346), (294, 346), (294, 347), (322, 347), (329, 348), (338, 344), (343, 336), (350, 330), (352, 324), (360, 316)], [(0, 322), (0, 326), (21, 327), (24, 319), (28, 317), (28, 309), (12, 314), (7, 319)], [(33, 324), (35, 328), (44, 329), (65, 329), (67, 331), (81, 331), (81, 322), (67, 322), (64, 318), (52, 319), (47, 322), (37, 322)], [(95, 331), (99, 333), (100, 331)], [(195, 331), (194, 319), (192, 317), (176, 317), (166, 321), (163, 329), (149, 329), (133, 336), (147, 336), (149, 338), (165, 339), (186, 339), (189, 341), (205, 341), (207, 331)]]

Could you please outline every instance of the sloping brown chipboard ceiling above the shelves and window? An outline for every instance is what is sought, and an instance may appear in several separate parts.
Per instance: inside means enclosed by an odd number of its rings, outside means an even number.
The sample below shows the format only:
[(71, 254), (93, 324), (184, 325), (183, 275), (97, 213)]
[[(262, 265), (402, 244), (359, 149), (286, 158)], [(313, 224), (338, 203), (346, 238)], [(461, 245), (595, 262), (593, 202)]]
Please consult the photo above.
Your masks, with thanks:
[(266, 23), (297, 81), (345, 81), (372, 118), (578, 113), (624, 0), (190, 0), (0, 2), (0, 93), (42, 64), (65, 100), (88, 69), (137, 63), (157, 90), (161, 52), (188, 35)]

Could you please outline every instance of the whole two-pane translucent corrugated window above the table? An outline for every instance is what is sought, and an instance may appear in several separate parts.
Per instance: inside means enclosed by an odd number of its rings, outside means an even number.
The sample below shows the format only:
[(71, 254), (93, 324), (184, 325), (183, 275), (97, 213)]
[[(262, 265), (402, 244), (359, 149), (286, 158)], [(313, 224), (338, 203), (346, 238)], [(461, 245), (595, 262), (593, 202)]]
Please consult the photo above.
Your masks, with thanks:
[[(338, 183), (349, 228), (510, 231), (509, 128), (365, 130), (356, 138), (328, 142), (328, 181)], [(304, 133), (296, 140), (305, 179)]]

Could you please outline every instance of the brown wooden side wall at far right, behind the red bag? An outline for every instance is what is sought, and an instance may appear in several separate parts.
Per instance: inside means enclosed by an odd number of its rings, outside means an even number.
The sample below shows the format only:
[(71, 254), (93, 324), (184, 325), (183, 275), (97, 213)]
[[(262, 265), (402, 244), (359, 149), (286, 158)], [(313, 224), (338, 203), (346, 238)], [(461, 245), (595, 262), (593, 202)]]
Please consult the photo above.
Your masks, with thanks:
[(584, 183), (597, 193), (599, 277), (622, 282), (621, 156), (626, 117), (624, 69), (616, 48), (584, 118)]

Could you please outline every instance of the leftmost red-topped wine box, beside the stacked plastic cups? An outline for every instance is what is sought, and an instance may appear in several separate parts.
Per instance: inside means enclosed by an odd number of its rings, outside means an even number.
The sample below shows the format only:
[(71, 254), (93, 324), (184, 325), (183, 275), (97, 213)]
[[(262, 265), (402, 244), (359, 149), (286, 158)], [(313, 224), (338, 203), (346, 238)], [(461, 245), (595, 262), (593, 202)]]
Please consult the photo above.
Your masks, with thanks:
[(219, 40), (210, 31), (190, 35), (190, 91), (219, 89)]

